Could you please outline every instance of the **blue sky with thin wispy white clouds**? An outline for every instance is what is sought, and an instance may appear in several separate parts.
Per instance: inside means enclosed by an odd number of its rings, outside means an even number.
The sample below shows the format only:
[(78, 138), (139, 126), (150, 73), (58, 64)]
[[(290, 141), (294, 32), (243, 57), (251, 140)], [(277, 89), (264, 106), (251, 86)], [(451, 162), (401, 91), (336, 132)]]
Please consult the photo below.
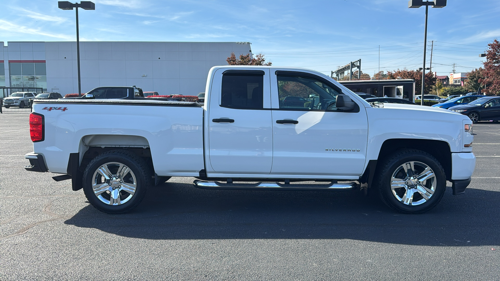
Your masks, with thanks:
[[(79, 10), (80, 40), (249, 41), (273, 65), (330, 70), (361, 58), (361, 69), (421, 67), (425, 8), (407, 0), (94, 0)], [(438, 75), (481, 66), (500, 37), (499, 0), (448, 0), (429, 8), (427, 67)], [(74, 10), (56, 0), (3, 0), (0, 41), (75, 40)], [(380, 46), (380, 57), (378, 52)]]

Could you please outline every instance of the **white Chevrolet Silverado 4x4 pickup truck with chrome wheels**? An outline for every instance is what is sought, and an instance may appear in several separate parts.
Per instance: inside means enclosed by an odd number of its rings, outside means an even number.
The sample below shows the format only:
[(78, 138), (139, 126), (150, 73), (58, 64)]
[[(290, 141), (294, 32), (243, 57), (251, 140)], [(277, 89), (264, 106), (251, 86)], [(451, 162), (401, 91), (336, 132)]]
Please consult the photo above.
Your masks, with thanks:
[(463, 193), (474, 170), (466, 116), (370, 104), (313, 70), (215, 66), (205, 93), (204, 104), (36, 100), (25, 168), (62, 173), (53, 178), (71, 179), (108, 213), (132, 209), (171, 176), (208, 189), (361, 188), (421, 213), (439, 202), (446, 180)]

